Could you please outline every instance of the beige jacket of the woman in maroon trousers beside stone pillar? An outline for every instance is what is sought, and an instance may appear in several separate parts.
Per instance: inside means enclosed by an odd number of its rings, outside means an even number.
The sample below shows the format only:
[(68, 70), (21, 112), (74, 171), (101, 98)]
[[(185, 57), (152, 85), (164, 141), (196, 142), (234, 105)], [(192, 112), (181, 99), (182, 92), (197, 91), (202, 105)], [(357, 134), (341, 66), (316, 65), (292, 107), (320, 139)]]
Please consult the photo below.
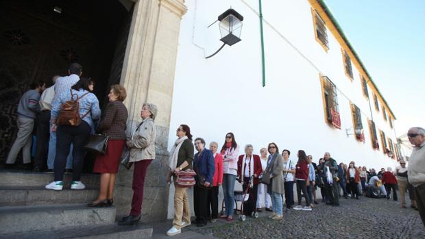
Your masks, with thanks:
[(154, 120), (146, 118), (130, 140), (130, 162), (155, 159), (156, 127)]

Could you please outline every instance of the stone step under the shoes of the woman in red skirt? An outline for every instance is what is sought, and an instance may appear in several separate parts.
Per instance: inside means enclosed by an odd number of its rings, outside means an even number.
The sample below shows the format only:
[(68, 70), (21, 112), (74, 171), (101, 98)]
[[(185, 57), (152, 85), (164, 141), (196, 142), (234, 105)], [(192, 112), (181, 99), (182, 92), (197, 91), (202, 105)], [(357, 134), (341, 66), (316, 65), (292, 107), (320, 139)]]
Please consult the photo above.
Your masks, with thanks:
[(28, 231), (110, 225), (115, 221), (115, 214), (115, 207), (84, 204), (0, 207), (0, 238)]

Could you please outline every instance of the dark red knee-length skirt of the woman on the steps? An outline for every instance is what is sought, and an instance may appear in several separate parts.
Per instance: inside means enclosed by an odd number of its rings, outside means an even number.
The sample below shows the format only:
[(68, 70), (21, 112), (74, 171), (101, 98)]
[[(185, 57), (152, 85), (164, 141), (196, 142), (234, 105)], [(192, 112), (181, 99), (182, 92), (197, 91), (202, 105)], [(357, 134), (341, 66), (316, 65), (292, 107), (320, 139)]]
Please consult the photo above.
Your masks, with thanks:
[(96, 156), (94, 173), (118, 173), (118, 166), (123, 153), (125, 140), (109, 140), (105, 154)]

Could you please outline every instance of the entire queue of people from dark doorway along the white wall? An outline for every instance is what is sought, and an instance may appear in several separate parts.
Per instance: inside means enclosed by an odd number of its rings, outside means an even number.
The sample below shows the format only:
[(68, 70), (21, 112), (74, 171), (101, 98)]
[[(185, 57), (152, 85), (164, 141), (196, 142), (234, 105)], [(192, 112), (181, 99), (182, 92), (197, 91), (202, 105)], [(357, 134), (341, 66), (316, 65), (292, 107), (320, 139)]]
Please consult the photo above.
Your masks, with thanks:
[[(119, 85), (111, 86), (109, 103), (101, 114), (99, 100), (92, 93), (93, 81), (81, 75), (82, 66), (73, 63), (69, 66), (69, 76), (53, 77), (54, 85), (50, 88), (45, 90), (45, 83), (38, 81), (32, 84), (31, 90), (25, 92), (19, 101), (18, 136), (12, 145), (6, 166), (14, 164), (21, 149), (24, 164), (31, 163), (29, 149), (32, 144), (34, 122), (38, 118), (34, 170), (42, 171), (47, 164), (47, 168), (54, 172), (54, 180), (45, 188), (62, 190), (64, 173), (72, 165), (71, 189), (84, 189), (85, 185), (80, 180), (85, 156), (84, 145), (94, 131), (107, 134), (109, 137), (107, 151), (105, 154), (97, 155), (94, 167), (94, 172), (99, 173), (101, 177), (99, 196), (88, 206), (104, 207), (113, 204), (114, 185), (121, 154), (127, 149), (130, 152), (130, 162), (134, 164), (132, 182), (134, 193), (130, 213), (122, 218), (119, 224), (132, 225), (141, 219), (145, 175), (149, 164), (156, 158), (154, 120), (158, 109), (154, 104), (144, 103), (141, 110), (142, 121), (132, 132), (131, 137), (127, 138), (128, 112), (123, 104), (126, 98), (125, 88)], [(76, 115), (72, 117), (63, 113), (64, 107), (70, 101), (77, 101), (79, 105)], [(64, 118), (68, 123), (66, 121), (64, 123)], [(95, 125), (95, 121), (99, 121), (98, 125)], [(240, 154), (240, 147), (232, 132), (226, 134), (220, 151), (217, 142), (211, 142), (209, 149), (206, 149), (206, 141), (203, 138), (195, 138), (192, 143), (193, 136), (188, 125), (180, 125), (176, 130), (176, 136), (178, 138), (169, 154), (170, 171), (167, 175), (167, 182), (171, 184), (173, 181), (175, 187), (173, 196), (175, 213), (173, 226), (167, 231), (169, 236), (180, 234), (181, 229), (191, 223), (203, 227), (208, 222), (214, 223), (217, 218), (233, 221), (236, 181), (241, 182), (243, 190), (250, 193), (249, 199), (242, 202), (245, 209), (243, 212), (246, 215), (263, 212), (265, 208), (273, 212), (269, 218), (279, 221), (283, 218), (284, 206), (286, 210), (293, 208), (311, 211), (314, 204), (318, 204), (315, 197), (317, 187), (321, 190), (322, 202), (332, 206), (339, 206), (340, 197), (360, 199), (365, 195), (390, 199), (391, 192), (393, 200), (398, 201), (396, 192), (398, 188), (401, 207), (406, 208), (405, 194), (408, 191), (411, 207), (420, 211), (425, 225), (425, 172), (422, 171), (425, 166), (425, 129), (420, 127), (409, 129), (409, 140), (415, 145), (409, 168), (406, 168), (406, 162), (400, 161), (400, 166), (394, 171), (392, 168), (387, 168), (387, 171), (381, 168), (379, 173), (376, 173), (374, 168), (367, 171), (365, 166), (357, 167), (354, 161), (348, 165), (337, 164), (328, 152), (324, 153), (318, 164), (313, 163), (313, 157), (307, 155), (304, 150), (298, 151), (297, 160), (291, 160), (291, 152), (284, 149), (280, 153), (278, 145), (274, 142), (269, 143), (267, 148), (260, 149), (260, 155), (254, 154), (254, 147), (251, 144), (247, 144), (245, 153)], [(49, 157), (43, 161), (42, 155), (47, 151)], [(51, 160), (51, 157), (54, 159)], [(191, 170), (195, 175), (194, 221), (191, 221), (188, 187), (178, 184), (177, 180), (182, 172)], [(294, 184), (298, 205), (295, 205), (293, 199)], [(224, 194), (221, 214), (218, 201), (219, 186), (222, 187)]]

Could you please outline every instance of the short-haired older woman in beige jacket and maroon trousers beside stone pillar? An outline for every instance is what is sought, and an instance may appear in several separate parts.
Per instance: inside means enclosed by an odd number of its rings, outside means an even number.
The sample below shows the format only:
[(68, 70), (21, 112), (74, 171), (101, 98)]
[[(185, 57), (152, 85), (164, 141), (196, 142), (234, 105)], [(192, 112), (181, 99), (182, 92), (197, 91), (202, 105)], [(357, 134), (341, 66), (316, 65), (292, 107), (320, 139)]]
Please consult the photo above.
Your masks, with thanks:
[(155, 159), (156, 127), (155, 117), (158, 110), (153, 103), (144, 103), (141, 110), (143, 121), (136, 127), (132, 138), (127, 140), (130, 149), (130, 162), (134, 163), (132, 210), (119, 225), (132, 225), (141, 219), (143, 188), (147, 167)]

